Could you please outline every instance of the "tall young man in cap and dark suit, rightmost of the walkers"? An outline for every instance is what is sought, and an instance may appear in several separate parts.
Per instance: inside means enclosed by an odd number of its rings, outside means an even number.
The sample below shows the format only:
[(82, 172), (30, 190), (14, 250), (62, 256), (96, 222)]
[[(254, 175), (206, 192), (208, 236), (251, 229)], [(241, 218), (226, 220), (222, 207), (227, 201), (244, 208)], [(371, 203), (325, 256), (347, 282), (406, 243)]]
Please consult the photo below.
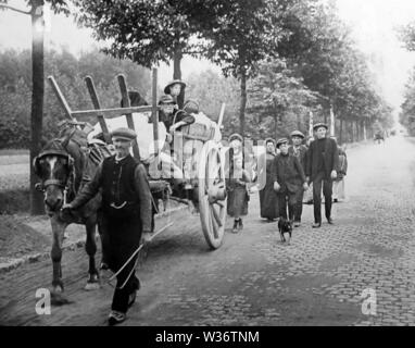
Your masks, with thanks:
[(310, 144), (305, 173), (307, 182), (313, 183), (314, 224), (313, 228), (322, 226), (322, 185), (325, 199), (326, 219), (332, 224), (331, 195), (332, 181), (337, 177), (339, 152), (336, 140), (326, 137), (328, 126), (317, 123), (313, 127), (316, 139)]

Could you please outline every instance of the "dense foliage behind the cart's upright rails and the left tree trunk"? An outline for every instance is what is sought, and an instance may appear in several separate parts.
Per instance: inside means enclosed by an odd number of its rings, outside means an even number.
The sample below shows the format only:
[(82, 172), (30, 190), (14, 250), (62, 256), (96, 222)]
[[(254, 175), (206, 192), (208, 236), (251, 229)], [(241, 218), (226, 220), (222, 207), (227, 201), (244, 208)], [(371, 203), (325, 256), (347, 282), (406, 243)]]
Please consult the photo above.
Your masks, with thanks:
[[(29, 51), (8, 50), (0, 53), (0, 148), (27, 148), (30, 129), (32, 71)], [(11, 69), (13, 66), (13, 69)], [(150, 94), (150, 72), (131, 61), (122, 61), (91, 51), (75, 58), (66, 50), (46, 54), (46, 75), (52, 75), (73, 110), (92, 109), (84, 77), (91, 75), (104, 108), (120, 105), (115, 76), (124, 73), (130, 89)], [(65, 117), (49, 84), (46, 84), (43, 138), (56, 134), (59, 121)], [(84, 121), (84, 120), (79, 120)], [(87, 120), (96, 122), (96, 120)]]

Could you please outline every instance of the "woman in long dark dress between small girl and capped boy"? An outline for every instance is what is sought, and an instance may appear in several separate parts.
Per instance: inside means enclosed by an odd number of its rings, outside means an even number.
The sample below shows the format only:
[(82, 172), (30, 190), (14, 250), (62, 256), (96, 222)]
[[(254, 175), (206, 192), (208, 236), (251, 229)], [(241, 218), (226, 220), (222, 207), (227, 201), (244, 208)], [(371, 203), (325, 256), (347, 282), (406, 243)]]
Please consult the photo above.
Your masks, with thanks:
[(273, 222), (278, 217), (278, 200), (277, 194), (274, 190), (274, 178), (272, 174), (272, 165), (276, 157), (275, 140), (271, 138), (266, 139), (265, 149), (266, 183), (265, 187), (260, 190), (261, 217)]

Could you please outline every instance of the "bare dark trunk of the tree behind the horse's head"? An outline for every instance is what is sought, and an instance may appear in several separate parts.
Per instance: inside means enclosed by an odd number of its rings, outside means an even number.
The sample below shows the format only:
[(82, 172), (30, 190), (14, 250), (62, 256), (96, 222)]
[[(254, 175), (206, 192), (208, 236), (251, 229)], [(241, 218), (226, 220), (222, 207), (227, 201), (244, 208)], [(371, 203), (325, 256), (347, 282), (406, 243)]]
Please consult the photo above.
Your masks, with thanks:
[[(32, 115), (30, 115), (30, 164), (40, 151), (40, 140), (43, 120), (43, 95), (45, 95), (45, 72), (43, 72), (43, 30), (39, 30), (36, 23), (42, 21), (42, 14), (38, 7), (43, 5), (43, 0), (34, 0), (32, 9)], [(43, 197), (35, 189), (38, 182), (30, 165), (30, 213), (32, 215), (43, 214)]]

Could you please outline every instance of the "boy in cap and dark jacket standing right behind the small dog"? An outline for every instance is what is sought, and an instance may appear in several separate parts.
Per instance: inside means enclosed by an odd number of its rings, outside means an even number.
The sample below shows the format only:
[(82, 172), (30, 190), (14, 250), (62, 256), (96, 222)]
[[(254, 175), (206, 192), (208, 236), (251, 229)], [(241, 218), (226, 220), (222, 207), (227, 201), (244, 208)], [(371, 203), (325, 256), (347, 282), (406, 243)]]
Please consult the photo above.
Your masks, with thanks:
[[(304, 171), (297, 157), (288, 152), (288, 139), (277, 141), (280, 153), (274, 160), (274, 190), (278, 197), (279, 216), (292, 221), (298, 215), (299, 195), (307, 189)], [(288, 216), (287, 216), (288, 204)]]

